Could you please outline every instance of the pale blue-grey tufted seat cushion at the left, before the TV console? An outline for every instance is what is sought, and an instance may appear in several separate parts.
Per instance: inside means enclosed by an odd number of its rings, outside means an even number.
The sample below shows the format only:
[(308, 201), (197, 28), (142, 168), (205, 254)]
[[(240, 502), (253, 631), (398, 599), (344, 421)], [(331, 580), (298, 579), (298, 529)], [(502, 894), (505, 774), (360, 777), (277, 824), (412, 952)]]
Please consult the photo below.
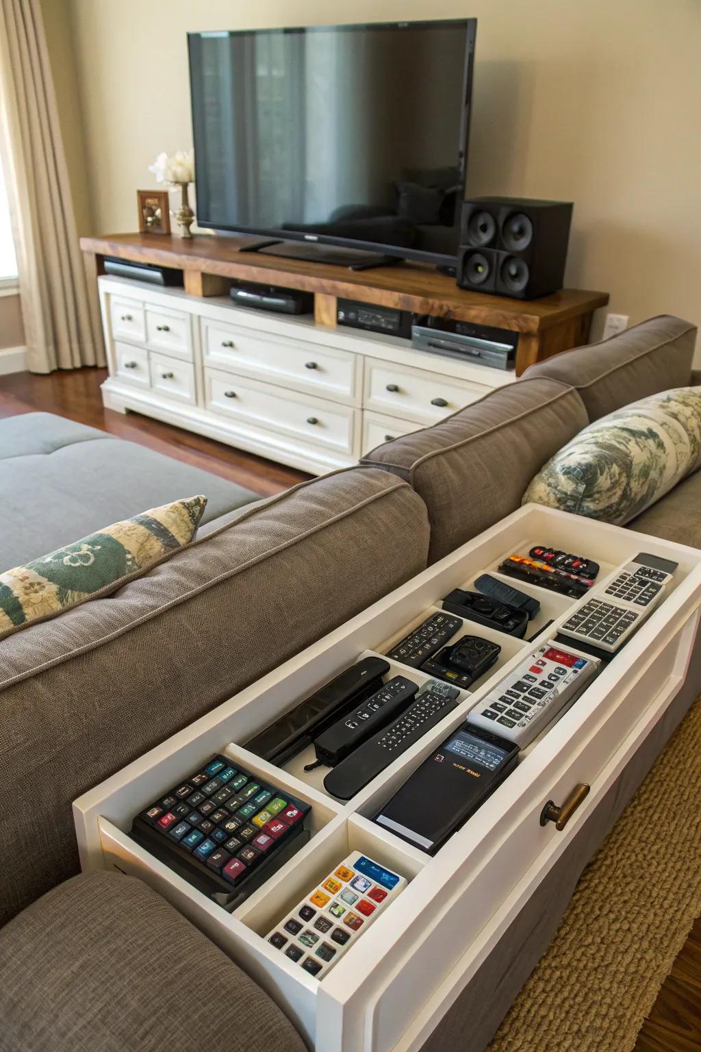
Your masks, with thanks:
[(0, 420), (0, 572), (183, 495), (205, 494), (205, 523), (256, 497), (49, 412)]

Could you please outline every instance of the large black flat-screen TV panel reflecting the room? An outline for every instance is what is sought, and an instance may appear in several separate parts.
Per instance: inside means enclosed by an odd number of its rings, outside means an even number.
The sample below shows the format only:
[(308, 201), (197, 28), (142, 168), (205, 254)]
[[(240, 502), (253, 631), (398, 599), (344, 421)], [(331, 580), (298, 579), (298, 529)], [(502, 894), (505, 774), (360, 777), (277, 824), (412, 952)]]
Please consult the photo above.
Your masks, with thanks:
[(476, 20), (189, 35), (198, 222), (450, 262)]

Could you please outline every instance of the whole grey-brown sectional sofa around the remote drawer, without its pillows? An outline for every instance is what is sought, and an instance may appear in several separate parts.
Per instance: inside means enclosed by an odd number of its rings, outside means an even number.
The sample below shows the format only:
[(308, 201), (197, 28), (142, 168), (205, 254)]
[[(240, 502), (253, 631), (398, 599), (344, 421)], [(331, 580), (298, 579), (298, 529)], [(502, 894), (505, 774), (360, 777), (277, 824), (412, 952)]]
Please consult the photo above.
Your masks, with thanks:
[[(701, 382), (695, 338), (679, 319), (652, 319), (263, 502), (61, 418), (0, 421), (0, 570), (144, 508), (209, 498), (192, 545), (0, 643), (1, 1052), (303, 1048), (268, 996), (154, 892), (118, 874), (76, 875), (71, 801), (513, 511), (590, 420)], [(701, 471), (632, 525), (701, 547), (700, 509)], [(656, 746), (700, 691), (697, 651)], [(558, 883), (541, 889), (538, 923), (514, 922), (518, 952), (486, 963), (427, 1049), (463, 1034), (467, 1013), (462, 1047), (489, 1041), (653, 760), (637, 757), (606, 818), (573, 838)], [(179, 976), (192, 985), (192, 1013), (171, 993)]]

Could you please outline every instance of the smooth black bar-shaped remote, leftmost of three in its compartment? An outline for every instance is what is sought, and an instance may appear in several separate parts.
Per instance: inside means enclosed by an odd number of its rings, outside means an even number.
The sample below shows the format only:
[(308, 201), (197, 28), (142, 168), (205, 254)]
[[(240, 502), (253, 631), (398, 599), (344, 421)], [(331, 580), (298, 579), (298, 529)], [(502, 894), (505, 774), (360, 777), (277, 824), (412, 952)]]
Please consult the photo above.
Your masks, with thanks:
[(245, 748), (283, 767), (339, 716), (376, 693), (389, 670), (382, 658), (364, 658), (251, 737)]

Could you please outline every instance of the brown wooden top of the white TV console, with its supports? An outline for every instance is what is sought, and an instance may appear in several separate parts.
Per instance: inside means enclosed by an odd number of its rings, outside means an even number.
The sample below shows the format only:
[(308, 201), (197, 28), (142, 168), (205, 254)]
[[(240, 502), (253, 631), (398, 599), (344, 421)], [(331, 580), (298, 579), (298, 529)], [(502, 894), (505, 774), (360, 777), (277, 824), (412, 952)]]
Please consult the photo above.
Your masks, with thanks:
[(170, 235), (117, 234), (82, 238), (81, 248), (96, 277), (112, 256), (184, 271), (191, 296), (223, 296), (232, 280), (284, 285), (314, 294), (314, 317), (334, 326), (337, 297), (417, 313), (491, 325), (519, 333), (516, 375), (534, 362), (585, 343), (592, 313), (605, 306), (605, 292), (564, 288), (539, 300), (511, 300), (460, 289), (452, 278), (417, 263), (353, 271), (342, 266), (263, 255), (242, 255), (251, 238), (200, 235), (184, 241)]

